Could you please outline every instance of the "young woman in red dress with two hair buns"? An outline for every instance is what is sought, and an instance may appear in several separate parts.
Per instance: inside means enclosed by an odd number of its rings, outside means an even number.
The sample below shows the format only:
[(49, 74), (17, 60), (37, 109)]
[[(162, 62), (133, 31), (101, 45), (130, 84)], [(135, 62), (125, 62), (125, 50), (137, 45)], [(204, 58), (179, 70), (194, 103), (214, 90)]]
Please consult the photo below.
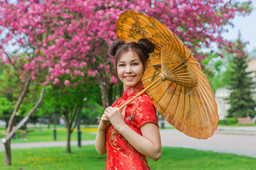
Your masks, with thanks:
[(138, 42), (115, 40), (109, 53), (114, 55), (115, 71), (124, 86), (124, 95), (105, 109), (98, 126), (95, 147), (107, 153), (106, 169), (149, 169), (146, 157), (161, 157), (161, 139), (156, 108), (144, 93), (124, 103), (144, 89), (142, 77), (154, 44), (142, 38)]

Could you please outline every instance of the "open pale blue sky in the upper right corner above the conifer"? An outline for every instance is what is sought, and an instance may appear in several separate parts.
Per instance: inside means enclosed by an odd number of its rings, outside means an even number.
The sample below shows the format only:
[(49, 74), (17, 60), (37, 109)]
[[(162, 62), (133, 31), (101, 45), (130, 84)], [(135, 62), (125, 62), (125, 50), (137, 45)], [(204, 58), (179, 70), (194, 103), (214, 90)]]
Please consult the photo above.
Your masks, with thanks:
[(229, 32), (223, 33), (224, 38), (237, 40), (238, 30), (240, 30), (242, 40), (249, 42), (249, 44), (246, 45), (248, 52), (251, 52), (253, 48), (256, 49), (256, 0), (251, 1), (254, 10), (250, 13), (250, 16), (235, 16), (233, 19), (234, 28), (228, 27)]

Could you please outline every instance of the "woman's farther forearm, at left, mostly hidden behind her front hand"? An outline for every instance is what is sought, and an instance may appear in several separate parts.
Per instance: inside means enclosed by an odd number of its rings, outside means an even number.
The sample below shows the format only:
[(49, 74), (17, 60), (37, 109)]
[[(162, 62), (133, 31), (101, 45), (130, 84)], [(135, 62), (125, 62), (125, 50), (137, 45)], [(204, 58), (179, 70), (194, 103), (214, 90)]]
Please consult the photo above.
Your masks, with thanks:
[(95, 139), (95, 148), (98, 154), (106, 154), (106, 127), (110, 125), (110, 121), (105, 114), (100, 118), (100, 124), (98, 126), (97, 135)]

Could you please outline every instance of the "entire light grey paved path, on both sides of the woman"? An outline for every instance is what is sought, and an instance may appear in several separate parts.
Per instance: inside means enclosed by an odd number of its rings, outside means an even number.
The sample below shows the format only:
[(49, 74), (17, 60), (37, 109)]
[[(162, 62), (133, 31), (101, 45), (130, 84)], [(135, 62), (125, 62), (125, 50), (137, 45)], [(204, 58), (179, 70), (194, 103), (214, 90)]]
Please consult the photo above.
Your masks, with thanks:
[[(255, 127), (219, 127), (213, 137), (197, 140), (188, 137), (176, 129), (160, 130), (163, 147), (184, 147), (213, 152), (232, 153), (256, 158), (256, 126)], [(94, 145), (94, 140), (82, 141), (82, 145)], [(66, 142), (31, 142), (11, 144), (11, 149), (30, 147), (65, 147)], [(71, 145), (78, 145), (72, 141)], [(0, 143), (0, 152), (4, 145)]]

